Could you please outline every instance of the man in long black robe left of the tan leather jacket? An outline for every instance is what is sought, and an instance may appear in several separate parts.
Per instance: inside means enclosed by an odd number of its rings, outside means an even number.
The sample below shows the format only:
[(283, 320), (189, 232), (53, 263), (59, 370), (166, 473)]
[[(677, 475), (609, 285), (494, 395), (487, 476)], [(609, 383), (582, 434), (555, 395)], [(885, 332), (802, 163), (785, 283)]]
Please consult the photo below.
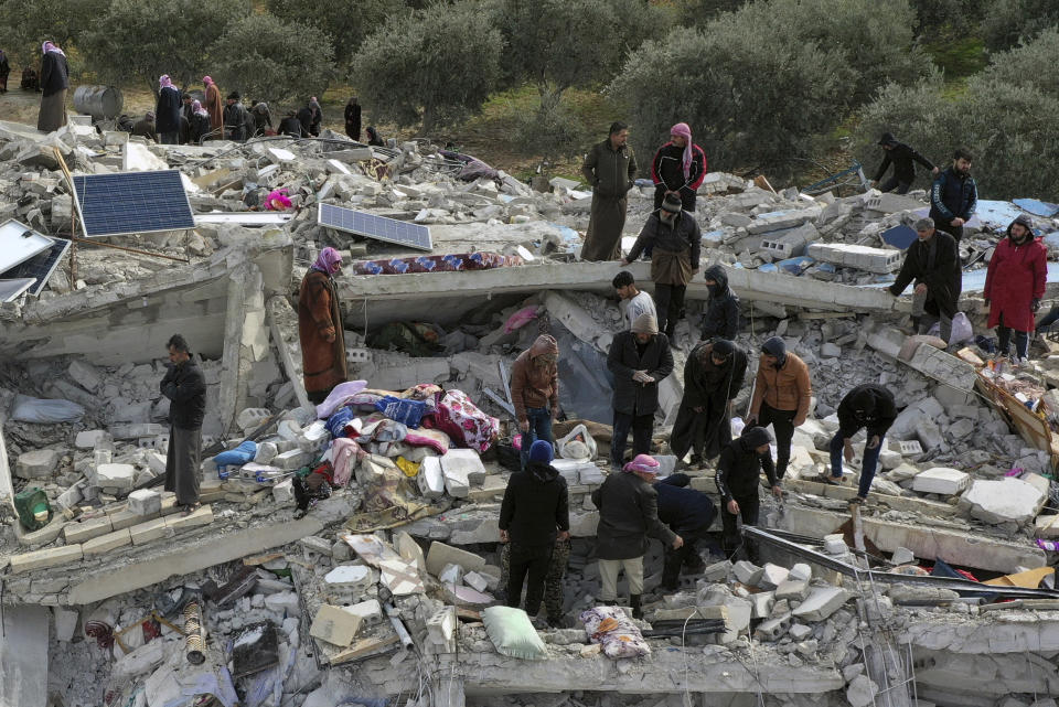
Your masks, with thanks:
[(676, 413), (670, 450), (698, 467), (731, 441), (731, 401), (742, 388), (747, 354), (727, 339), (700, 343), (684, 364), (684, 397)]

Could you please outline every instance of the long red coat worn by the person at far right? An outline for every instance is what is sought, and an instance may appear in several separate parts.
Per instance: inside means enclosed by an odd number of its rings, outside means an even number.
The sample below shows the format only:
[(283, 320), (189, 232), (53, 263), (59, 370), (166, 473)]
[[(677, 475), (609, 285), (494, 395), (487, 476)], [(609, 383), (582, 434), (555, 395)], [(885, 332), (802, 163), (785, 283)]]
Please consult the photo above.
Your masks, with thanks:
[(990, 300), (990, 329), (1001, 323), (1015, 331), (1034, 331), (1030, 302), (1045, 296), (1048, 279), (1048, 249), (1039, 238), (1020, 246), (1004, 237), (996, 244), (985, 276), (985, 299)]

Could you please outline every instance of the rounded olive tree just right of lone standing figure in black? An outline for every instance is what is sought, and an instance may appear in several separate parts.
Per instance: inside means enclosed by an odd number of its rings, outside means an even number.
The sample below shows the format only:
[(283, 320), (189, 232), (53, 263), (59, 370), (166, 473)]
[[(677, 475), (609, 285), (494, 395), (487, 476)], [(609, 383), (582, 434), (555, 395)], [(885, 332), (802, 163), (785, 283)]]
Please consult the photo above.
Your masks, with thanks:
[(353, 83), (376, 120), (422, 135), (478, 110), (496, 86), (503, 40), (474, 0), (391, 17), (353, 57)]

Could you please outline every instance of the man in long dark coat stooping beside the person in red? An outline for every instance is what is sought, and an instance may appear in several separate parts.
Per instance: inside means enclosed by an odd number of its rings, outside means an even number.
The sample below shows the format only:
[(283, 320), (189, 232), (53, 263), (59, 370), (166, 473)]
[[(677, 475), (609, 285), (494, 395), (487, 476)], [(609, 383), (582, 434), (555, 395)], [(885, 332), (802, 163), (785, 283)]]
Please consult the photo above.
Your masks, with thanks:
[(941, 338), (948, 343), (952, 336), (952, 318), (956, 315), (963, 289), (960, 250), (953, 237), (934, 228), (934, 222), (930, 218), (916, 222), (916, 234), (918, 238), (909, 246), (897, 280), (888, 290), (898, 297), (909, 282), (916, 280), (912, 296), (913, 333), (918, 334), (924, 326), (929, 329), (928, 324), (938, 319)]

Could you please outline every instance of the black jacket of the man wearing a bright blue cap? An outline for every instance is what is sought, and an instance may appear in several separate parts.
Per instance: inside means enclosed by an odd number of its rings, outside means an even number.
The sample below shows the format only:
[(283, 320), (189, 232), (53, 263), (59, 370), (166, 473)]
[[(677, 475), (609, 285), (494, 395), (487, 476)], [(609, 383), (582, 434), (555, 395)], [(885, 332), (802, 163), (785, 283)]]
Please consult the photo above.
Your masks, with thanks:
[(566, 479), (550, 464), (538, 461), (513, 473), (500, 505), (500, 529), (507, 531), (516, 545), (555, 543), (558, 531), (570, 529)]

